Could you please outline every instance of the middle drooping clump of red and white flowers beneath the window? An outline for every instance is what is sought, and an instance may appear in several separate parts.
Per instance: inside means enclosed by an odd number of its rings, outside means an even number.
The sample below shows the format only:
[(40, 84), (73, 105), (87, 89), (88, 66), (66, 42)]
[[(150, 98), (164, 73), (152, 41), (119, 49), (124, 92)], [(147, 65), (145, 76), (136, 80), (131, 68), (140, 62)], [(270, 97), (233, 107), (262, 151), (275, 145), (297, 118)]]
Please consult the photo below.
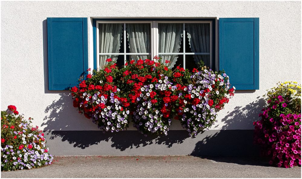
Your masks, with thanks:
[[(155, 57), (155, 60), (158, 60)], [(125, 83), (122, 89), (129, 90), (134, 127), (144, 135), (148, 133), (165, 134), (171, 124), (172, 103), (176, 88), (169, 79), (171, 70), (154, 60), (131, 60), (121, 69)]]

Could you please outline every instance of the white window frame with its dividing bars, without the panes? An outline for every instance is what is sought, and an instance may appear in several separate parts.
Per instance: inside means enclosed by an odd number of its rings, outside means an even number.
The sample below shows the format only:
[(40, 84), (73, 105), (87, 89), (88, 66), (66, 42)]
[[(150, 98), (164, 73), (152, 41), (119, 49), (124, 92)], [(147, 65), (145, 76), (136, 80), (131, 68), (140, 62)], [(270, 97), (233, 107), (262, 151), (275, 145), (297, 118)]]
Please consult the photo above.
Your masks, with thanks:
[[(117, 23), (117, 24), (124, 24), (123, 29), (123, 43), (124, 43), (124, 53), (99, 53), (99, 24), (104, 23)], [(150, 23), (151, 27), (151, 53), (126, 53), (126, 44), (127, 38), (126, 37), (126, 24), (127, 23)], [(185, 24), (186, 23), (209, 23), (210, 24), (210, 52), (209, 53), (193, 53), (193, 52), (185, 52), (185, 45), (186, 43), (182, 43), (184, 52), (179, 53), (159, 53), (158, 52), (158, 43), (159, 43), (159, 35), (158, 35), (158, 24), (159, 23), (182, 23), (183, 24), (183, 42), (185, 42)], [(124, 55), (124, 64), (126, 63), (126, 55), (150, 55), (150, 57), (154, 57), (155, 55), (183, 55), (183, 68), (186, 68), (186, 55), (210, 55), (210, 68), (213, 68), (213, 49), (212, 49), (212, 21), (96, 21), (96, 63), (97, 63), (97, 70), (99, 70), (99, 56), (100, 55)], [(156, 43), (154, 43), (156, 42)]]

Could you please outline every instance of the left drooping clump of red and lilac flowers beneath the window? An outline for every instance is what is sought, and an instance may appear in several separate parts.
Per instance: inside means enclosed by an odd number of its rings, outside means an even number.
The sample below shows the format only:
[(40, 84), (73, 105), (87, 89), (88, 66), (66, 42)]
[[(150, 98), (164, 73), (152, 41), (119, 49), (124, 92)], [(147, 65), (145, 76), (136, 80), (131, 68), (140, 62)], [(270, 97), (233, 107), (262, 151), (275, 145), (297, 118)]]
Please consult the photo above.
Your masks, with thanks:
[(122, 91), (115, 85), (113, 79), (118, 75), (116, 63), (111, 59), (103, 70), (88, 74), (86, 80), (81, 80), (79, 86), (71, 88), (73, 106), (80, 113), (98, 122), (100, 129), (105, 131), (119, 131), (128, 127), (127, 98), (121, 97)]

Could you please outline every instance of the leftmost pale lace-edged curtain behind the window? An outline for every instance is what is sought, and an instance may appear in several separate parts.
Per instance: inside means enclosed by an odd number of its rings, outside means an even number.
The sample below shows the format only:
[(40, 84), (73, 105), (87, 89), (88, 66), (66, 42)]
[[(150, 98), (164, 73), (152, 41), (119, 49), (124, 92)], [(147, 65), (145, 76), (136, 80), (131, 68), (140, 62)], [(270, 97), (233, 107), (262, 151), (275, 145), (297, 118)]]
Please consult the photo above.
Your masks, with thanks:
[[(123, 34), (123, 24), (99, 24), (99, 53), (119, 53)], [(106, 59), (116, 61), (117, 56), (101, 55), (99, 67), (106, 64)]]

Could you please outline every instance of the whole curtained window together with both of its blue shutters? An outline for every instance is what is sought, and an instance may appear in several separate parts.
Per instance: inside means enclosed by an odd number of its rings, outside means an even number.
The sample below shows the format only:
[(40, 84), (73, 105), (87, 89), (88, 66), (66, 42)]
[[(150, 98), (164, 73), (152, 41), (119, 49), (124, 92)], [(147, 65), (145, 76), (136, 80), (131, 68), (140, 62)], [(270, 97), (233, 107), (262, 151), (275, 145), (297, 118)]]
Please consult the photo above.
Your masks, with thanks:
[[(145, 21), (132, 18), (92, 18), (91, 20), (93, 61), (91, 60), (89, 65), (87, 18), (47, 18), (49, 90), (66, 90), (75, 86), (79, 76), (88, 67), (93, 69), (102, 67), (99, 61), (101, 55), (106, 56), (102, 59), (111, 56), (117, 57), (120, 66), (130, 58), (160, 55), (164, 59), (174, 60), (175, 65), (171, 66), (172, 69), (177, 65), (192, 69), (201, 59), (206, 61), (206, 64), (209, 63), (208, 66), (213, 70), (225, 70), (232, 79), (230, 83), (236, 86), (236, 89), (259, 89), (259, 18), (219, 18), (219, 30), (217, 18), (145, 18)], [(104, 35), (119, 32), (115, 33), (116, 36), (107, 36), (108, 40), (112, 42), (106, 42), (106, 44), (112, 46), (103, 45), (99, 48), (99, 25), (101, 23), (120, 24), (102, 26), (105, 29), (102, 30)], [(146, 26), (145, 30), (138, 28), (131, 30), (131, 24), (135, 27), (133, 24), (136, 23)], [(128, 30), (127, 24), (130, 28)], [(148, 32), (149, 29), (150, 32)], [(126, 34), (131, 34), (131, 32), (133, 32), (133, 37), (131, 35), (127, 37)], [(136, 32), (141, 34), (136, 35)], [(218, 34), (219, 41), (216, 38)], [(136, 39), (135, 36), (137, 36)], [(142, 39), (141, 36), (144, 38)], [(104, 37), (102, 37), (103, 44), (105, 44)], [(128, 40), (129, 38), (130, 40)], [(148, 40), (149, 42), (147, 42)], [(139, 46), (136, 41), (139, 41)], [(131, 43), (134, 48), (129, 47)], [(145, 47), (141, 48), (143, 44)], [(110, 51), (104, 50), (109, 47)]]

